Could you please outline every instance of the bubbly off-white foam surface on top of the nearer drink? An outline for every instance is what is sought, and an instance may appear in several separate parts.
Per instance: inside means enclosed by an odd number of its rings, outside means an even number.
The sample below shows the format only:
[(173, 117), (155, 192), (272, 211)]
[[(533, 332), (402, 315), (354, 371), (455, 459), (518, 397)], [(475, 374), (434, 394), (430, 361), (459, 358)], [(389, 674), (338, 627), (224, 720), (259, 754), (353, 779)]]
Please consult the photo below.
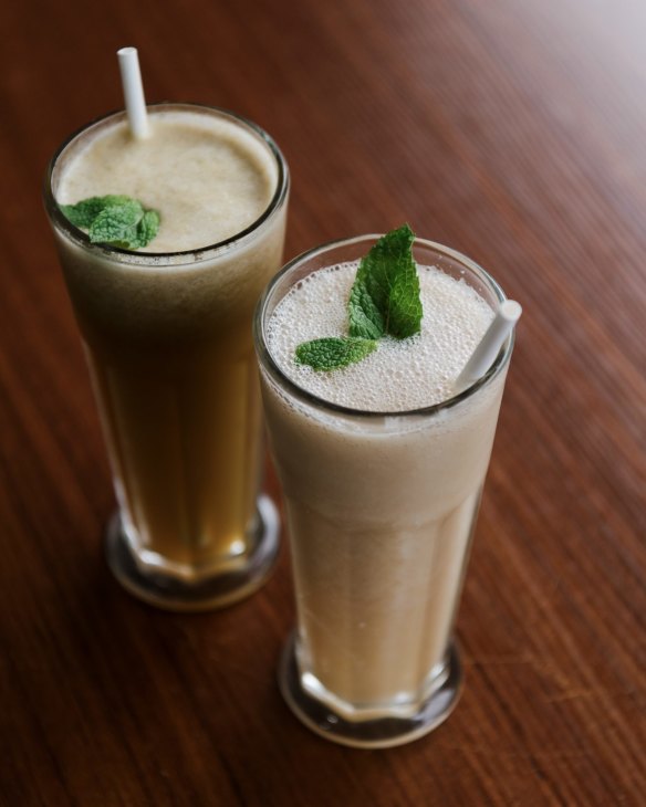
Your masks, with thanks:
[(418, 266), (424, 317), (407, 339), (381, 339), (358, 364), (330, 373), (294, 360), (299, 344), (347, 335), (347, 300), (357, 263), (319, 270), (279, 303), (268, 345), (282, 371), (319, 398), (365, 411), (406, 411), (439, 404), (493, 319), (493, 311), (467, 283), (433, 266)]

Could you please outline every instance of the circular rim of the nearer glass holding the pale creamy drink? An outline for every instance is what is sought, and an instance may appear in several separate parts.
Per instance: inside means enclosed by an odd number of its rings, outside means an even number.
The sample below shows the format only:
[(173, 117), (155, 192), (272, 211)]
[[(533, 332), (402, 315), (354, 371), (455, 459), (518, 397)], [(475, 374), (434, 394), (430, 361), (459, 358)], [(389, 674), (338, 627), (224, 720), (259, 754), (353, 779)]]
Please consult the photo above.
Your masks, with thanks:
[[(513, 350), (513, 344), (514, 344), (514, 331), (508, 336), (506, 339), (503, 346), (500, 348), (500, 352), (498, 353), (498, 356), (496, 357), (496, 360), (491, 365), (491, 367), (487, 370), (487, 373), (478, 378), (476, 381), (470, 384), (466, 389), (461, 390), (455, 396), (451, 396), (450, 398), (447, 398), (446, 400), (439, 401), (439, 404), (433, 404), (427, 407), (418, 407), (416, 409), (403, 409), (403, 410), (395, 410), (395, 411), (373, 411), (367, 409), (355, 409), (353, 407), (343, 406), (342, 404), (334, 404), (332, 401), (325, 400), (325, 398), (321, 398), (317, 395), (314, 395), (313, 392), (310, 392), (309, 390), (301, 387), (299, 384), (293, 381), (289, 376), (285, 375), (285, 373), (279, 367), (277, 361), (274, 360), (273, 356), (271, 355), (271, 352), (267, 345), (267, 340), (264, 338), (265, 335), (265, 323), (267, 323), (267, 306), (270, 302), (271, 295), (275, 286), (280, 283), (280, 281), (289, 274), (291, 271), (293, 271), (298, 265), (301, 265), (305, 261), (309, 261), (313, 258), (316, 258), (320, 254), (323, 254), (334, 248), (337, 247), (350, 247), (352, 244), (357, 244), (361, 242), (375, 242), (379, 238), (382, 238), (383, 233), (368, 233), (365, 235), (356, 235), (354, 238), (348, 239), (340, 239), (335, 241), (327, 241), (326, 243), (320, 244), (319, 247), (314, 247), (313, 249), (306, 250), (305, 252), (302, 252), (300, 255), (296, 255), (293, 258), (289, 263), (286, 263), (280, 272), (278, 272), (268, 283), (264, 291), (262, 292), (262, 295), (260, 296), (260, 300), (258, 301), (258, 304), (256, 306), (256, 312), (253, 315), (253, 342), (256, 345), (256, 352), (258, 355), (258, 361), (260, 364), (261, 369), (264, 369), (269, 373), (269, 375), (272, 377), (274, 381), (277, 381), (279, 385), (284, 387), (284, 389), (292, 395), (294, 398), (300, 400), (301, 402), (308, 404), (310, 406), (313, 406), (316, 409), (324, 409), (331, 412), (335, 412), (338, 415), (345, 415), (345, 416), (352, 416), (355, 418), (365, 418), (365, 419), (374, 419), (374, 418), (403, 418), (403, 417), (428, 417), (433, 415), (437, 415), (445, 409), (449, 409), (451, 407), (455, 407), (458, 404), (461, 404), (462, 401), (471, 398), (476, 392), (478, 392), (480, 389), (483, 389), (485, 387), (488, 387), (494, 378), (497, 378), (502, 369), (509, 364), (509, 359), (511, 357), (512, 350)], [(415, 247), (425, 247), (427, 249), (430, 249), (438, 253), (441, 256), (450, 258), (454, 261), (457, 261), (459, 264), (468, 269), (469, 271), (473, 272), (493, 293), (499, 303), (503, 303), (508, 297), (502, 291), (502, 287), (500, 284), (487, 272), (487, 270), (482, 269), (476, 261), (472, 261), (467, 255), (462, 254), (461, 252), (458, 252), (457, 250), (451, 249), (450, 247), (445, 247), (444, 244), (439, 244), (435, 241), (429, 241), (427, 239), (423, 238), (415, 238), (415, 241), (413, 242), (413, 248)]]

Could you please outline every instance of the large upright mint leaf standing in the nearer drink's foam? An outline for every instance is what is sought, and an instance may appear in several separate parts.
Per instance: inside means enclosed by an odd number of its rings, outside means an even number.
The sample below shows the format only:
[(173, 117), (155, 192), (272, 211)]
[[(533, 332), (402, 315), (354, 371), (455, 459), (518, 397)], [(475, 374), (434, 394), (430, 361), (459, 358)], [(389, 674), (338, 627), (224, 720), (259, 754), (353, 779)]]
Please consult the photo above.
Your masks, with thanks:
[(413, 260), (415, 233), (404, 224), (381, 238), (362, 259), (350, 294), (350, 335), (404, 339), (419, 333), (421, 301)]

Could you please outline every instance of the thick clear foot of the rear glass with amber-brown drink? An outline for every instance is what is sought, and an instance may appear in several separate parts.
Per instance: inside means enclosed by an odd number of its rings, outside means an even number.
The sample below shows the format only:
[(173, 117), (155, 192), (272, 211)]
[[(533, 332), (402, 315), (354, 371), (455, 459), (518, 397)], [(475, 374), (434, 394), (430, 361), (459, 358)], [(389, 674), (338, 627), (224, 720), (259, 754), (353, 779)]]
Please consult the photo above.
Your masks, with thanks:
[(253, 594), (269, 577), (279, 549), (280, 518), (269, 496), (258, 499), (258, 527), (250, 536), (254, 546), (243, 566), (226, 569), (196, 581), (181, 580), (138, 563), (117, 513), (106, 530), (107, 564), (122, 586), (149, 605), (171, 611), (206, 611), (237, 602)]

